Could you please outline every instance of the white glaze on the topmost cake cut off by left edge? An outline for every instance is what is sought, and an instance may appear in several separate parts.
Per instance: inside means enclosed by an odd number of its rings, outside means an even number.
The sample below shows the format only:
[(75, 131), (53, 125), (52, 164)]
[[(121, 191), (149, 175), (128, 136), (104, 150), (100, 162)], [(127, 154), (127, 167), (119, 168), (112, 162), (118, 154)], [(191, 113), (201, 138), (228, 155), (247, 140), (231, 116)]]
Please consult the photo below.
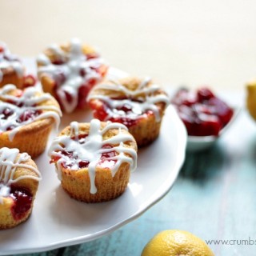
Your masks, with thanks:
[(4, 42), (0, 42), (0, 48), (2, 49), (0, 51), (0, 82), (2, 82), (3, 70), (8, 68), (12, 68), (18, 77), (22, 77), (24, 74), (22, 62), (18, 60), (17, 56), (10, 53)]

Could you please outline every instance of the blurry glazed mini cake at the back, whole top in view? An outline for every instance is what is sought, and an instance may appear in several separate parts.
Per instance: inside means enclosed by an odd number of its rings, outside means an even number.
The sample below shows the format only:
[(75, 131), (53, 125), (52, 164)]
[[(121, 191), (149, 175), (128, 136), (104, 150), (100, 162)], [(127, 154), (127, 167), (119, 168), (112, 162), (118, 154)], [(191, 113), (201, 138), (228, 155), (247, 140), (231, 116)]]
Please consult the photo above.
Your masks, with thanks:
[(52, 94), (66, 113), (86, 106), (88, 92), (107, 71), (99, 54), (78, 39), (50, 46), (37, 62), (43, 90)]

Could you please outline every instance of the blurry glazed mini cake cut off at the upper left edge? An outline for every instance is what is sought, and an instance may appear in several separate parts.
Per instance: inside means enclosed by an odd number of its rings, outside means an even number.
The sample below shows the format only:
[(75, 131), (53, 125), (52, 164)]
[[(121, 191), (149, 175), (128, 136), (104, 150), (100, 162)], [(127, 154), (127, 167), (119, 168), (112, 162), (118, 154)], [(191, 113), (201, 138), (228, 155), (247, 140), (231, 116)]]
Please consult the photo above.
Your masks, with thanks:
[(25, 67), (20, 59), (10, 53), (4, 42), (0, 42), (0, 87), (10, 83), (22, 89), (34, 86), (35, 82), (33, 75), (25, 74)]

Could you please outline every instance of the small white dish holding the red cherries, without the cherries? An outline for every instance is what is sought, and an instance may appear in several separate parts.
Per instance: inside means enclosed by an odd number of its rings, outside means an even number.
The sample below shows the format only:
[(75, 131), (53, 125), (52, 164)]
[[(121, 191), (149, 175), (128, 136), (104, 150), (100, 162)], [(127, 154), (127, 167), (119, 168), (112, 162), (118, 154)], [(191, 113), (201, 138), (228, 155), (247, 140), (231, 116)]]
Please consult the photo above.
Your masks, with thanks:
[(233, 125), (234, 120), (237, 118), (241, 107), (233, 107), (234, 114), (230, 119), (230, 122), (222, 128), (218, 136), (188, 136), (186, 150), (189, 152), (197, 152), (201, 150), (207, 150), (210, 146), (213, 146), (215, 142), (218, 141), (218, 138), (222, 136), (222, 134), (226, 133), (226, 130), (230, 129), (230, 126)]

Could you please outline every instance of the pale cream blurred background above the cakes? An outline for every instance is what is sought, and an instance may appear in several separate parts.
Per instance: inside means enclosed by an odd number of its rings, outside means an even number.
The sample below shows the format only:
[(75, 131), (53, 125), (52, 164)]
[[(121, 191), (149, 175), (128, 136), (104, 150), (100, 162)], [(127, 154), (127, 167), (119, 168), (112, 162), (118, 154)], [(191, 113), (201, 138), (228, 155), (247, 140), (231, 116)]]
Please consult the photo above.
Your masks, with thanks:
[(0, 0), (0, 39), (22, 56), (72, 37), (165, 85), (243, 90), (256, 78), (256, 1)]

